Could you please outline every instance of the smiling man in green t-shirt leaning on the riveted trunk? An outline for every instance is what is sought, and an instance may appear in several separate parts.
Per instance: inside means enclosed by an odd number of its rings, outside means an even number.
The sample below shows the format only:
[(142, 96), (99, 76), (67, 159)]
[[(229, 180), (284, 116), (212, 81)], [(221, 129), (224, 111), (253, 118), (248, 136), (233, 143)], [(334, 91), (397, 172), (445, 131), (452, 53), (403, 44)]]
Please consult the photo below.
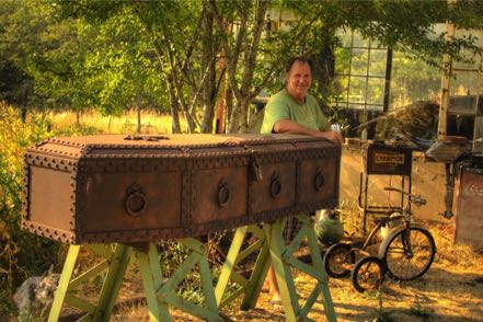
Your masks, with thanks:
[[(291, 58), (286, 67), (286, 87), (273, 95), (265, 107), (262, 134), (299, 134), (323, 137), (334, 145), (342, 145), (342, 136), (330, 130), (330, 124), (322, 114), (315, 97), (309, 94), (312, 70), (303, 57)], [(289, 243), (299, 231), (301, 222), (295, 217), (287, 220), (284, 239)], [(269, 300), (281, 304), (280, 292), (273, 267), (268, 269)]]

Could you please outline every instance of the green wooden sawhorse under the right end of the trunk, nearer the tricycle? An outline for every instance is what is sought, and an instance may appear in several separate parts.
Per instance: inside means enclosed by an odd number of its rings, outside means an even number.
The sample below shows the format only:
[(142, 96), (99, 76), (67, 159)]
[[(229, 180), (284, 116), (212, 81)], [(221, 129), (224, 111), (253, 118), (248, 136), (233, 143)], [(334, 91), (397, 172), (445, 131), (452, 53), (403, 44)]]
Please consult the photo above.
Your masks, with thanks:
[[(302, 228), (288, 246), (285, 245), (283, 238), (286, 218), (264, 223), (263, 229), (257, 226), (237, 229), (215, 289), (219, 307), (223, 307), (232, 302), (235, 298), (243, 296), (241, 309), (253, 309), (262, 290), (268, 267), (272, 264), (280, 290), (281, 302), (287, 321), (310, 321), (308, 314), (319, 295), (322, 297), (327, 321), (336, 321), (334, 306), (327, 285), (329, 278), (323, 269), (315, 232), (311, 225), (311, 218), (308, 215), (299, 215), (297, 218), (302, 221)], [(258, 237), (258, 240), (242, 250), (243, 240), (248, 232)], [(312, 265), (306, 264), (294, 256), (294, 253), (300, 248), (303, 239), (307, 240)], [(255, 266), (251, 276), (245, 278), (235, 272), (235, 267), (246, 256), (256, 251), (258, 251), (258, 255)], [(299, 306), (299, 299), (290, 267), (295, 267), (317, 279), (312, 292), (302, 307)], [(231, 295), (226, 296), (226, 290), (230, 283), (238, 285), (238, 289)]]

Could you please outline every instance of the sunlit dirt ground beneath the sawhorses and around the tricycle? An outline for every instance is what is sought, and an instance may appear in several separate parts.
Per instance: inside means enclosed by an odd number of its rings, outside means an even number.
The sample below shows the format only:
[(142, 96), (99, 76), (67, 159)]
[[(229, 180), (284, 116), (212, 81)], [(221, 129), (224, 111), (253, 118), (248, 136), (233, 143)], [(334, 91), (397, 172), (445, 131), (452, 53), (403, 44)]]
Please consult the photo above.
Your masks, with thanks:
[[(437, 253), (430, 269), (414, 281), (386, 280), (380, 292), (359, 294), (348, 278), (330, 279), (330, 290), (338, 321), (483, 321), (483, 254), (465, 245), (453, 245), (451, 227), (437, 225), (430, 228)], [(303, 304), (313, 288), (314, 279), (294, 271), (299, 303)], [(140, 296), (141, 284), (136, 277), (127, 280), (119, 298)], [(281, 311), (268, 303), (262, 291), (256, 308), (239, 309), (240, 300), (223, 308), (226, 321), (285, 321)], [(172, 310), (174, 321), (199, 321)], [(319, 297), (309, 318), (325, 321), (324, 308)], [(148, 321), (146, 303), (118, 307), (111, 321)]]

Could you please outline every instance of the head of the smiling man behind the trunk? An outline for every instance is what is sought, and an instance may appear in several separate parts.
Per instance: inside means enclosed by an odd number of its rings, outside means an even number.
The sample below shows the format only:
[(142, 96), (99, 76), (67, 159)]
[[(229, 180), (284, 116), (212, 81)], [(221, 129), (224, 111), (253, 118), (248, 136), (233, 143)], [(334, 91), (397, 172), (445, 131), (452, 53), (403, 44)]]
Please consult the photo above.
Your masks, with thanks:
[(312, 71), (309, 64), (299, 60), (294, 62), (287, 76), (287, 91), (290, 96), (303, 102), (311, 84)]

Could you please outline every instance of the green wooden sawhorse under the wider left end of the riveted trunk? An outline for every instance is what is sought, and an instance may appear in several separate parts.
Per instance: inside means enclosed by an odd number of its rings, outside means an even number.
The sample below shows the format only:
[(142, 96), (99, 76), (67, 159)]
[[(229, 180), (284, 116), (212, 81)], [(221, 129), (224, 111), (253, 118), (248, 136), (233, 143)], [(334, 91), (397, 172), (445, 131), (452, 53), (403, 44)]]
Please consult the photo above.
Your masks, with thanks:
[[(168, 279), (163, 278), (159, 252), (154, 243), (143, 243), (137, 248), (126, 244), (82, 245), (104, 260), (72, 278), (81, 245), (70, 245), (48, 321), (59, 320), (65, 303), (84, 313), (79, 321), (108, 321), (131, 255), (139, 261), (151, 321), (170, 321), (169, 306), (207, 321), (222, 321), (218, 314), (206, 245), (192, 238), (177, 241), (189, 250), (189, 255)], [(204, 306), (189, 302), (175, 292), (177, 285), (196, 265), (202, 277)], [(96, 303), (76, 296), (74, 291), (80, 285), (89, 284), (93, 277), (105, 271), (107, 272)]]

